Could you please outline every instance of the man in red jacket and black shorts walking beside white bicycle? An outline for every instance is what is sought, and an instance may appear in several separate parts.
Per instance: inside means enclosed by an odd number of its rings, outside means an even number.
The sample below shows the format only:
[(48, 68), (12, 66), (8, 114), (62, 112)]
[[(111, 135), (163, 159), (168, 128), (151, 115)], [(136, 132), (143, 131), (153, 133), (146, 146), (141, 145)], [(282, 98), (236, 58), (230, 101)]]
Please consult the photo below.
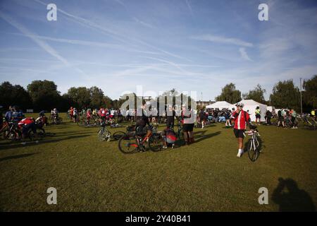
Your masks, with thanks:
[(237, 157), (241, 157), (244, 153), (243, 151), (243, 139), (244, 139), (244, 131), (247, 127), (247, 124), (251, 125), (251, 119), (247, 112), (244, 112), (242, 109), (244, 104), (237, 103), (237, 109), (232, 113), (232, 119), (235, 121), (235, 126), (233, 132), (235, 133), (235, 137), (238, 141), (238, 153)]

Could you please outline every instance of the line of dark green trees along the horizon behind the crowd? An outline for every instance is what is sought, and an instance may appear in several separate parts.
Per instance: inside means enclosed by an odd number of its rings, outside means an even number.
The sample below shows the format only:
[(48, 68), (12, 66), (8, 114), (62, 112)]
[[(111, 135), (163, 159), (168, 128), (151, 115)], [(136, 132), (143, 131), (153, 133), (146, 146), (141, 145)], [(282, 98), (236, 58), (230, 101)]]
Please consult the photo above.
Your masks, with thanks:
[[(241, 93), (240, 90), (236, 89), (234, 83), (229, 83), (222, 88), (220, 95), (215, 100), (235, 103), (242, 100), (242, 98), (246, 100), (252, 99), (276, 108), (288, 107), (297, 111), (300, 110), (300, 91), (292, 80), (276, 83), (269, 100), (265, 100), (265, 93), (266, 90), (261, 85), (256, 85), (253, 90), (249, 90), (247, 93)], [(138, 97), (135, 93), (133, 95), (135, 96), (136, 106)], [(175, 89), (166, 91), (165, 95), (181, 95), (182, 98), (184, 97), (182, 93), (178, 93)], [(173, 98), (174, 103), (175, 97)], [(71, 87), (67, 93), (61, 95), (54, 81), (32, 81), (32, 83), (27, 85), (26, 90), (21, 85), (12, 85), (8, 81), (0, 85), (0, 105), (5, 108), (10, 105), (17, 105), (20, 109), (34, 109), (35, 111), (42, 109), (49, 111), (54, 107), (60, 111), (66, 111), (70, 106), (78, 109), (85, 107), (98, 109), (101, 106), (117, 109), (125, 100), (124, 96), (119, 100), (112, 100), (97, 86), (92, 86), (91, 88)], [(317, 75), (304, 81), (302, 100), (304, 112), (317, 108)], [(157, 97), (157, 102), (159, 102), (159, 97)]]

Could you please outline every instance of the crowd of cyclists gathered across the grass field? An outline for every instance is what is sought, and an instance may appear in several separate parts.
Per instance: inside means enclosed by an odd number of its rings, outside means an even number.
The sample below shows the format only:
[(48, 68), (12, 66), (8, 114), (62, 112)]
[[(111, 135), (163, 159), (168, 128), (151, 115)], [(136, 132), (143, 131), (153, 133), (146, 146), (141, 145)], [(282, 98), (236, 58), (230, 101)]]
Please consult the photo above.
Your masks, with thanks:
[[(135, 122), (135, 132), (137, 134), (147, 133), (151, 129), (151, 123), (165, 123), (166, 129), (163, 130), (164, 145), (163, 148), (167, 148), (168, 142), (166, 136), (173, 133), (175, 120), (182, 126), (182, 133), (187, 145), (194, 143), (194, 126), (201, 125), (201, 128), (210, 123), (225, 123), (227, 127), (233, 127), (235, 137), (238, 141), (238, 153), (237, 157), (241, 157), (243, 154), (243, 139), (244, 131), (249, 124), (250, 128), (254, 126), (251, 124), (251, 117), (249, 111), (244, 111), (244, 105), (242, 103), (236, 105), (236, 109), (200, 109), (199, 111), (191, 109), (187, 105), (182, 105), (180, 109), (175, 106), (168, 105), (161, 113), (157, 109), (147, 108), (144, 104), (138, 109), (122, 110), (122, 109), (107, 109), (106, 107), (100, 107), (100, 109), (82, 109), (78, 111), (75, 107), (70, 107), (68, 115), (71, 121), (76, 122), (80, 117), (84, 117), (88, 122), (91, 119), (97, 119), (99, 121), (113, 122), (115, 119), (125, 119), (128, 122)], [(22, 131), (22, 141), (25, 139), (27, 132), (35, 131), (35, 124), (46, 125), (47, 117), (45, 111), (39, 112), (39, 117), (34, 119), (32, 117), (25, 117), (25, 114), (17, 106), (9, 107), (4, 113), (3, 107), (0, 106), (1, 120), (0, 128), (3, 128), (4, 122), (16, 124)], [(4, 115), (3, 115), (4, 113)], [(310, 117), (316, 120), (316, 109), (311, 110)], [(261, 124), (261, 109), (256, 107), (255, 111), (255, 124)], [(275, 118), (277, 122), (275, 125), (278, 127), (286, 128), (290, 126), (292, 129), (298, 128), (299, 114), (294, 109), (279, 109), (277, 113), (266, 110), (264, 114), (265, 124), (272, 125), (272, 119)], [(56, 121), (59, 119), (58, 110), (56, 108), (51, 110), (51, 120)], [(174, 132), (175, 133), (175, 132)], [(23, 142), (25, 144), (25, 142)]]

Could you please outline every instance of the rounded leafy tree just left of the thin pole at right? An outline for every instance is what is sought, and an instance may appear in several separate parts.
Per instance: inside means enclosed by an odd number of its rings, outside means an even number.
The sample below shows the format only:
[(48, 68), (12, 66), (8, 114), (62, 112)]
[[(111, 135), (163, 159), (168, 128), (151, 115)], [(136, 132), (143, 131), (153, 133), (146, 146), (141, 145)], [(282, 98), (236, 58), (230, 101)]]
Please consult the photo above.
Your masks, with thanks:
[(270, 95), (271, 105), (277, 108), (287, 107), (296, 111), (300, 110), (299, 88), (295, 87), (292, 80), (279, 81), (274, 85)]

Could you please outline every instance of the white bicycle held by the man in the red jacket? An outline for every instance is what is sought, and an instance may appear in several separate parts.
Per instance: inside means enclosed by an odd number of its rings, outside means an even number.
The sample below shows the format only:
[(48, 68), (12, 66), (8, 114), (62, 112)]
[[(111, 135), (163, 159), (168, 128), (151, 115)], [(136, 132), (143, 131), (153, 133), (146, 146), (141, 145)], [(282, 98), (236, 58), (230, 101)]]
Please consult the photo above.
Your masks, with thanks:
[(255, 162), (261, 153), (260, 142), (258, 139), (258, 137), (260, 137), (260, 133), (256, 129), (256, 126), (252, 126), (250, 127), (250, 131), (244, 132), (244, 136), (246, 136), (245, 134), (251, 136), (251, 138), (249, 139), (247, 143), (247, 151), (248, 151), (249, 159), (252, 162)]

